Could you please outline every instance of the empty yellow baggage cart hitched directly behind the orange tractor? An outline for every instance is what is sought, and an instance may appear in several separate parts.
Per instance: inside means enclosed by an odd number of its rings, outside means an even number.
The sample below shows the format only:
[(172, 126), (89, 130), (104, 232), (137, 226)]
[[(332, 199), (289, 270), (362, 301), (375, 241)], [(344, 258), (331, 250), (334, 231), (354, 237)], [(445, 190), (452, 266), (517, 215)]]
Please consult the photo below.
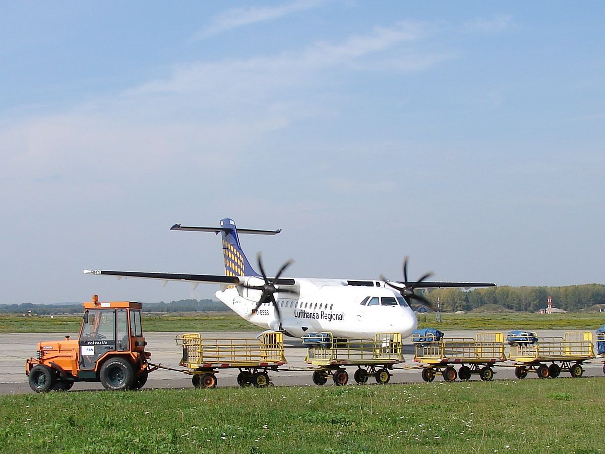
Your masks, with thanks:
[(197, 388), (217, 386), (216, 374), (221, 369), (239, 369), (237, 383), (266, 387), (271, 380), (268, 370), (277, 371), (287, 363), (281, 332), (264, 332), (257, 339), (203, 339), (199, 333), (177, 335), (183, 346), (182, 372), (192, 375)]

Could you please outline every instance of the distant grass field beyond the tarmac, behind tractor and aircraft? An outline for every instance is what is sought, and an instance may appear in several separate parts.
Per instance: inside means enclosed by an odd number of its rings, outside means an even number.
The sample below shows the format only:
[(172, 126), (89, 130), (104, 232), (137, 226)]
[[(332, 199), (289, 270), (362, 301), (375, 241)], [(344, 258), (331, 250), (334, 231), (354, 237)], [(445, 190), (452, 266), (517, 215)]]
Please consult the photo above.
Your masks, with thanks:
[[(442, 314), (443, 323), (434, 323), (435, 314), (418, 315), (419, 327), (448, 329), (586, 329), (595, 331), (605, 323), (605, 314), (598, 312), (569, 314)], [(77, 332), (82, 317), (23, 317), (0, 315), (0, 332)], [(259, 328), (233, 312), (197, 312), (185, 315), (143, 314), (143, 330), (148, 332), (185, 331), (258, 331)]]

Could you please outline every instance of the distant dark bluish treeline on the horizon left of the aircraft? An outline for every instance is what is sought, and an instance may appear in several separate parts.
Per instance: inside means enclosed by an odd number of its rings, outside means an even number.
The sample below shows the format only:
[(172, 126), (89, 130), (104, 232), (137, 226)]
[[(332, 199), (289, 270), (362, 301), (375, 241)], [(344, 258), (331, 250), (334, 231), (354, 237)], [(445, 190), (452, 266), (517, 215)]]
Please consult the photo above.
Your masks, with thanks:
[[(0, 304), (0, 314), (82, 314), (82, 303), (73, 304)], [(178, 300), (143, 303), (143, 312), (215, 312), (229, 311), (220, 301)]]

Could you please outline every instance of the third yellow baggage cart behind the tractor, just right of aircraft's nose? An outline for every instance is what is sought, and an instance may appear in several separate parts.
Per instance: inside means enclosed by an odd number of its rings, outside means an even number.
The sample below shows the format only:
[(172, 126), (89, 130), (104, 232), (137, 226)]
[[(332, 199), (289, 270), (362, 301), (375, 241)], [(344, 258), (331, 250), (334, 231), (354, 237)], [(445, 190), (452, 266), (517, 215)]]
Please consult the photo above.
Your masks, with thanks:
[[(467, 381), (472, 375), (489, 381), (494, 377), (494, 364), (506, 361), (504, 335), (501, 332), (480, 332), (474, 338), (431, 338), (430, 335), (412, 334), (416, 347), (414, 361), (422, 363), (422, 380), (433, 381), (437, 373), (443, 380)], [(454, 365), (460, 364), (456, 371)]]

